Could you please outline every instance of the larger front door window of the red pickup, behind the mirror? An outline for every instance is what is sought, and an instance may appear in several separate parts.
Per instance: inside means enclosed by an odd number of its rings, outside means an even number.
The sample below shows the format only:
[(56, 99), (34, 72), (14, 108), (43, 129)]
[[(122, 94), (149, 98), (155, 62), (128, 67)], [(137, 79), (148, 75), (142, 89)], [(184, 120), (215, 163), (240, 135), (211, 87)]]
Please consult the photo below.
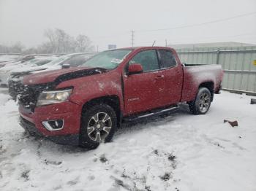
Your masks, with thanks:
[(153, 71), (159, 69), (159, 63), (156, 50), (145, 50), (139, 52), (129, 61), (129, 64), (140, 63), (143, 66), (143, 71)]

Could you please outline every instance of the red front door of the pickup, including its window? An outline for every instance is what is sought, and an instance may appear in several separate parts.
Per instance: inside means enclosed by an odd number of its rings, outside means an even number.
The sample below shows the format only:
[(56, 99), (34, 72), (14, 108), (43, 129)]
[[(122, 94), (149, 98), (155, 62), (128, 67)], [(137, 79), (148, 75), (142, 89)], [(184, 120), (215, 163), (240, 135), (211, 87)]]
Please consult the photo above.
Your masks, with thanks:
[[(140, 63), (143, 72), (124, 75), (124, 106), (126, 114), (143, 112), (162, 106), (165, 92), (164, 71), (159, 70), (156, 50), (138, 52), (129, 64)], [(127, 67), (128, 68), (128, 67)]]

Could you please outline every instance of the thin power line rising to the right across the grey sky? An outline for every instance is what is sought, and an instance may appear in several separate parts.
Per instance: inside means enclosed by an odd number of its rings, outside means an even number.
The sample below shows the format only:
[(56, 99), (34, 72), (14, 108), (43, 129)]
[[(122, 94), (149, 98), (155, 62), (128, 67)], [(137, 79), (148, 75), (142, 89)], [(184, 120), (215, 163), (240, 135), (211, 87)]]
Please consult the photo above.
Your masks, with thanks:
[(172, 27), (172, 28), (159, 28), (159, 29), (152, 29), (152, 30), (138, 30), (137, 32), (154, 32), (154, 31), (167, 31), (167, 30), (173, 30), (173, 29), (179, 29), (179, 28), (191, 28), (191, 27), (195, 27), (195, 26), (203, 26), (203, 25), (208, 25), (211, 23), (219, 23), (225, 20), (233, 20), (237, 17), (246, 17), (249, 15), (255, 15), (256, 12), (249, 12), (249, 13), (245, 13), (242, 15), (236, 15), (234, 17), (227, 17), (227, 18), (223, 18), (223, 19), (218, 19), (218, 20), (211, 20), (205, 23), (197, 23), (197, 24), (193, 24), (193, 25), (187, 25), (187, 26), (177, 26), (177, 27)]

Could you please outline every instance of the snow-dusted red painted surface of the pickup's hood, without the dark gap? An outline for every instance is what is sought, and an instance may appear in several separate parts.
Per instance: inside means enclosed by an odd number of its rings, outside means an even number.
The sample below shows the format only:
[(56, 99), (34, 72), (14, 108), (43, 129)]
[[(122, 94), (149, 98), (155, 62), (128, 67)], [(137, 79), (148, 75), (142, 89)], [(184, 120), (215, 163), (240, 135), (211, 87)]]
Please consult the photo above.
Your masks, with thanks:
[(58, 77), (64, 74), (73, 74), (75, 75), (79, 71), (89, 71), (89, 67), (77, 67), (77, 68), (69, 68), (69, 69), (58, 69), (52, 71), (42, 71), (39, 74), (31, 74), (23, 78), (23, 83), (25, 85), (37, 85), (37, 84), (45, 84), (48, 82), (54, 82)]

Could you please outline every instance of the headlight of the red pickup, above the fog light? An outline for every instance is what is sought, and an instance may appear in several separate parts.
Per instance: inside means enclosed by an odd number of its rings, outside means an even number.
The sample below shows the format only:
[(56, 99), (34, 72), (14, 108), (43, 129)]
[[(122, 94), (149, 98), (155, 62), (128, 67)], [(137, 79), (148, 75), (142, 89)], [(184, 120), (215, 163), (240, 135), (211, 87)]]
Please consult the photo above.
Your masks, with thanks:
[(39, 94), (37, 106), (56, 104), (67, 101), (72, 93), (72, 88), (65, 90), (45, 90)]

